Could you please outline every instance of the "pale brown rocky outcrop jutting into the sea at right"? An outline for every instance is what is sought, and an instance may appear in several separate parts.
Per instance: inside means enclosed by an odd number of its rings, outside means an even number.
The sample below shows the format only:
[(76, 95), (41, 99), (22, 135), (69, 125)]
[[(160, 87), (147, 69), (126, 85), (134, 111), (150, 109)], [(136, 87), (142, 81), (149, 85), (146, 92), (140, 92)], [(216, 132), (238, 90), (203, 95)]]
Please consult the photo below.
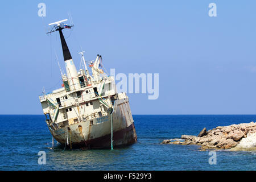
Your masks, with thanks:
[(196, 144), (201, 146), (201, 150), (256, 150), (256, 122), (218, 126), (208, 131), (204, 128), (197, 137), (193, 135), (181, 135), (181, 139), (163, 140), (162, 143)]

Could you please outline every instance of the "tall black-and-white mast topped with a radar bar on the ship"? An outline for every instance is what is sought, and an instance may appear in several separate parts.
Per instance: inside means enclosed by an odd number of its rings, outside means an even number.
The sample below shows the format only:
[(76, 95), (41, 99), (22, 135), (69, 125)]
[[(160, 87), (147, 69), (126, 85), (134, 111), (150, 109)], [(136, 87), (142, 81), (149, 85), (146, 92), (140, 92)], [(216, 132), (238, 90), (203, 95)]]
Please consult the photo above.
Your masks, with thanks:
[(60, 41), (61, 41), (61, 47), (63, 51), (63, 57), (65, 61), (65, 67), (66, 67), (66, 72), (68, 76), (68, 81), (69, 81), (69, 88), (71, 90), (76, 90), (80, 88), (80, 83), (79, 83), (79, 78), (78, 78), (78, 73), (75, 64), (73, 63), (71, 53), (69, 52), (68, 45), (65, 41), (64, 35), (62, 30), (64, 28), (71, 28), (72, 26), (68, 26), (67, 24), (63, 24), (62, 22), (67, 21), (68, 19), (60, 20), (59, 22), (54, 22), (50, 23), (49, 26), (53, 25), (52, 30), (48, 32), (47, 34), (55, 31), (59, 31), (60, 34)]

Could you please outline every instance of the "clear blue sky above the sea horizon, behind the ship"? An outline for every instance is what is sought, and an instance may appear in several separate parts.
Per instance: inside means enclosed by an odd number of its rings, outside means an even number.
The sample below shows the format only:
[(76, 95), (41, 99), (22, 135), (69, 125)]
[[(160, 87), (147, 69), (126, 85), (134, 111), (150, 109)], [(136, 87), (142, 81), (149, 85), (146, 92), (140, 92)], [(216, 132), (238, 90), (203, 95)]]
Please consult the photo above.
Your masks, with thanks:
[[(46, 3), (46, 17), (38, 4)], [(217, 5), (209, 17), (208, 5)], [(76, 67), (103, 56), (108, 71), (159, 73), (159, 98), (128, 94), (133, 114), (256, 114), (256, 1), (2, 1), (0, 114), (43, 114), (43, 86), (60, 88), (64, 61), (48, 23), (65, 31)], [(70, 35), (70, 36), (69, 36)]]

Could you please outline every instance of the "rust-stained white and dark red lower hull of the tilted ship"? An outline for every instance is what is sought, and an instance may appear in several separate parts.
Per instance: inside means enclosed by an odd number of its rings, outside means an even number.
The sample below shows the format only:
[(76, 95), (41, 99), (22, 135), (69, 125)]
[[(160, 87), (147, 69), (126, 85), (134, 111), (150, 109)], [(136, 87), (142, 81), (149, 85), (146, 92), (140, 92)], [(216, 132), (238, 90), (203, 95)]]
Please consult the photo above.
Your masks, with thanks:
[(137, 142), (133, 118), (129, 112), (129, 102), (119, 102), (111, 115), (94, 118), (52, 130), (53, 138), (65, 148), (111, 148), (127, 146)]

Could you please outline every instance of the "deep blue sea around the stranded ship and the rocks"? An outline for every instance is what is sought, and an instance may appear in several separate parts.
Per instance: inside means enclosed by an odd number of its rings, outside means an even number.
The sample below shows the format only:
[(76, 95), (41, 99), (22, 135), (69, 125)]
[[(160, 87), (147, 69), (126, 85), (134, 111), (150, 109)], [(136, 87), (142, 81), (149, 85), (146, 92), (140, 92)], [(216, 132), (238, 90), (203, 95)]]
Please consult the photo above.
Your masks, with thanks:
[[(0, 115), (0, 170), (256, 170), (256, 152), (209, 151), (199, 146), (160, 144), (206, 127), (256, 121), (256, 115), (133, 115), (138, 142), (111, 150), (63, 150), (55, 143), (44, 115)], [(38, 164), (38, 152), (46, 164)]]

